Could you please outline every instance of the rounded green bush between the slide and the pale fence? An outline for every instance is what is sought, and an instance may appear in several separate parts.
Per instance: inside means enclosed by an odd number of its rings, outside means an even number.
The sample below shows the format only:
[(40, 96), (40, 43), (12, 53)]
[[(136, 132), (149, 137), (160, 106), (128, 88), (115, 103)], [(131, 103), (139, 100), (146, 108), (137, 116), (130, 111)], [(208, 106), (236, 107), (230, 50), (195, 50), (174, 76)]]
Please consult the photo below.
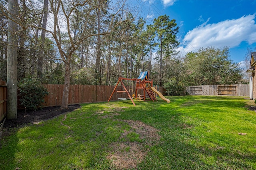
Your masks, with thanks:
[(176, 78), (172, 78), (165, 83), (164, 89), (168, 95), (185, 95), (184, 84), (182, 82), (178, 82)]

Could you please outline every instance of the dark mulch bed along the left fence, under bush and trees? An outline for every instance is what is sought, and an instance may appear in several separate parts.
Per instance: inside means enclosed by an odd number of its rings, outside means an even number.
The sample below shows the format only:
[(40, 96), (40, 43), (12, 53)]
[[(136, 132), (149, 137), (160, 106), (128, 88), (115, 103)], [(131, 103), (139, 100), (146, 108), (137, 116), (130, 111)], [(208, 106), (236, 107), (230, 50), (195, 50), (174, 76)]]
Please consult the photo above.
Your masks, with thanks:
[(60, 106), (53, 106), (53, 107), (44, 107), (36, 111), (26, 111), (26, 112), (25, 110), (18, 111), (17, 119), (6, 120), (4, 123), (4, 127), (6, 128), (20, 127), (27, 123), (39, 122), (42, 120), (50, 119), (62, 113), (73, 111), (79, 107), (81, 107), (79, 104), (75, 104), (75, 105), (69, 105), (68, 110), (60, 109)]

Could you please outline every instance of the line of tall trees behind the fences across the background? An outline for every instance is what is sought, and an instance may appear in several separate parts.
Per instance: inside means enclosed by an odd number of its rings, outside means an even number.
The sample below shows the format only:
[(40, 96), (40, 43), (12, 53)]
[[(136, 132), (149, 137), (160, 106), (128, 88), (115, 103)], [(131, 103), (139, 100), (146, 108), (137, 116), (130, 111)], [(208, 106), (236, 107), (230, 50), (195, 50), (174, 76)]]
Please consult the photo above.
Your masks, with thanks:
[[(0, 2), (0, 78), (6, 80), (8, 4)], [(181, 55), (176, 20), (163, 15), (146, 25), (122, 0), (20, 0), (16, 17), (18, 80), (65, 84), (64, 96), (70, 84), (114, 85), (145, 70), (160, 86), (242, 82), (228, 47)]]

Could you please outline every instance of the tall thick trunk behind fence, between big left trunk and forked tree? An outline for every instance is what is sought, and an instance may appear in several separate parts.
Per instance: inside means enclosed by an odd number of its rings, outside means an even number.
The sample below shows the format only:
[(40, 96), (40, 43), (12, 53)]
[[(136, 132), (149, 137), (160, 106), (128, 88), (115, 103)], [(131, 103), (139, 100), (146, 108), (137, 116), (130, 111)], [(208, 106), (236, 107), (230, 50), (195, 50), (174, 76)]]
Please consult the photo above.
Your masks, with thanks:
[[(43, 24), (42, 24), (42, 28), (46, 29), (46, 23), (47, 23), (47, 16), (48, 16), (48, 0), (44, 0), (44, 8), (43, 8), (43, 12), (44, 12), (44, 18), (43, 18)], [(44, 48), (44, 40), (45, 40), (45, 33), (46, 31), (42, 29), (42, 33), (41, 33), (41, 47)], [(43, 78), (43, 52), (40, 53), (40, 57), (38, 58), (38, 67), (37, 67), (37, 77), (42, 80)]]

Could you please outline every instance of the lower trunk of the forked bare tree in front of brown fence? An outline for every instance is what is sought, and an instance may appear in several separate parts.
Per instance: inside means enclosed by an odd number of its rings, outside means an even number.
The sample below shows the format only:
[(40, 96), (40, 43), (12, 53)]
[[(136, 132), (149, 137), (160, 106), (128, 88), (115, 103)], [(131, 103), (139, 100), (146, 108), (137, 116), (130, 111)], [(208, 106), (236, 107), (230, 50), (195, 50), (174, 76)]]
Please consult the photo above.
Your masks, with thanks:
[(64, 80), (64, 90), (62, 94), (61, 109), (68, 110), (69, 87), (70, 87), (70, 61), (67, 61), (65, 63), (65, 80)]

